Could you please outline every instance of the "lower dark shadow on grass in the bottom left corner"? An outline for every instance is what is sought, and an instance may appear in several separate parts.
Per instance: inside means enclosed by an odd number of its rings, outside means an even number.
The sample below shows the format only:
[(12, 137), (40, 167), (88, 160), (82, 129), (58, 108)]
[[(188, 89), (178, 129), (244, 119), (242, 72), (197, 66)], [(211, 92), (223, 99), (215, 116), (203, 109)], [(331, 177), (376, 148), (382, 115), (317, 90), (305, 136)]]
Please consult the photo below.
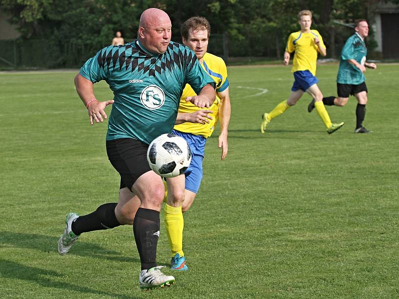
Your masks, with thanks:
[(76, 286), (69, 283), (57, 282), (52, 280), (51, 277), (55, 279), (62, 278), (63, 275), (58, 272), (24, 266), (3, 259), (0, 259), (0, 269), (2, 277), (18, 280), (22, 279), (25, 281), (34, 282), (46, 288), (56, 288), (84, 294), (94, 294), (97, 296), (112, 296), (119, 299), (137, 299), (137, 297), (130, 297), (112, 292), (104, 292), (87, 287)]

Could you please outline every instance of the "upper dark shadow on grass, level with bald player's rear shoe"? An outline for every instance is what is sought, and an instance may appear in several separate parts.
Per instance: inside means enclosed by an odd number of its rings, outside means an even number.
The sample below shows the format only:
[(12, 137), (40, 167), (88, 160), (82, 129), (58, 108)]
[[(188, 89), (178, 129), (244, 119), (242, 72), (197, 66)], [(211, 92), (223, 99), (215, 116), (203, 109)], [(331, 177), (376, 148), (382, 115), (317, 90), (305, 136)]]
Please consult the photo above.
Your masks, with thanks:
[[(57, 252), (58, 238), (52, 236), (2, 231), (0, 232), (0, 240), (2, 247), (7, 247), (8, 244), (12, 247), (18, 248), (37, 249), (44, 252)], [(118, 262), (140, 262), (137, 258), (124, 257), (117, 251), (105, 249), (91, 243), (81, 242), (80, 240), (76, 242), (68, 254)]]

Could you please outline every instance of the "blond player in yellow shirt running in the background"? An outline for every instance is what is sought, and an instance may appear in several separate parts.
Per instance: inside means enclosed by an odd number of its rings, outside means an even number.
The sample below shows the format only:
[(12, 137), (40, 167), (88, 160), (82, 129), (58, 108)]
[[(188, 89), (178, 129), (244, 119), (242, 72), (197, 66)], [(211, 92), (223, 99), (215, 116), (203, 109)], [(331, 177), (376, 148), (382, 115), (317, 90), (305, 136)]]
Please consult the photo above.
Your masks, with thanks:
[(317, 54), (326, 56), (326, 46), (320, 33), (317, 30), (310, 29), (312, 24), (312, 12), (310, 10), (302, 10), (298, 13), (298, 23), (301, 30), (290, 34), (284, 52), (284, 64), (288, 65), (290, 53), (295, 51), (291, 70), (294, 73), (295, 81), (291, 88), (291, 95), (288, 100), (278, 104), (270, 113), (263, 114), (260, 131), (264, 133), (273, 118), (295, 105), (304, 92), (307, 92), (315, 99), (316, 111), (326, 126), (327, 133), (331, 134), (340, 129), (344, 123), (331, 123), (330, 116), (323, 104), (323, 94), (316, 84), (319, 82), (316, 78)]

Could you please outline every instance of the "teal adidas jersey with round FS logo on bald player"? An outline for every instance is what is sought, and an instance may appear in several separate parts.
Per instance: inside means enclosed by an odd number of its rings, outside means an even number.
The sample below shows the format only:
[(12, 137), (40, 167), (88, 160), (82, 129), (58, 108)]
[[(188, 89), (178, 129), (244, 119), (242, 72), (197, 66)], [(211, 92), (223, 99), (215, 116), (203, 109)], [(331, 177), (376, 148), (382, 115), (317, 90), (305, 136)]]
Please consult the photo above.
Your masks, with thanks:
[(186, 83), (196, 93), (215, 86), (194, 52), (175, 42), (163, 54), (149, 52), (138, 40), (105, 47), (80, 74), (93, 83), (105, 80), (114, 92), (106, 140), (133, 138), (146, 144), (172, 132)]

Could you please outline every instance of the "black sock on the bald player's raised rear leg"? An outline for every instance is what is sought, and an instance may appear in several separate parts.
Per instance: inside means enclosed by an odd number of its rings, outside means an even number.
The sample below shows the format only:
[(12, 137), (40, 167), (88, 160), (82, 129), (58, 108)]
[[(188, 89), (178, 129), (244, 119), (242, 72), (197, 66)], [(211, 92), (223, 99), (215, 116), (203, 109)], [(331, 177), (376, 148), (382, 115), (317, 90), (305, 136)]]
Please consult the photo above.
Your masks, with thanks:
[(116, 205), (116, 202), (105, 203), (100, 205), (93, 213), (79, 216), (72, 222), (72, 232), (79, 236), (81, 233), (109, 229), (121, 225), (115, 216)]

